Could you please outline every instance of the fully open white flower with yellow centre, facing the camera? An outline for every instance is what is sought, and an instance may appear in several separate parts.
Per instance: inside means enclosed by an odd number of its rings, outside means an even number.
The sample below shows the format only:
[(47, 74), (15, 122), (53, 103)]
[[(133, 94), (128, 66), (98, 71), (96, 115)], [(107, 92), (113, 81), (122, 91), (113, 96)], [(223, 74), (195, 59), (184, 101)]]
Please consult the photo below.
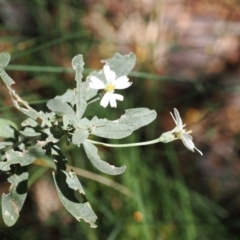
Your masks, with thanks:
[(103, 72), (107, 80), (104, 83), (102, 80), (98, 79), (95, 76), (90, 77), (89, 87), (93, 89), (104, 89), (105, 94), (100, 102), (100, 105), (107, 107), (110, 103), (111, 107), (117, 107), (116, 100), (123, 101), (123, 96), (117, 93), (114, 93), (115, 89), (125, 89), (131, 86), (131, 82), (127, 76), (121, 76), (116, 79), (116, 73), (111, 71), (108, 65), (104, 65)]

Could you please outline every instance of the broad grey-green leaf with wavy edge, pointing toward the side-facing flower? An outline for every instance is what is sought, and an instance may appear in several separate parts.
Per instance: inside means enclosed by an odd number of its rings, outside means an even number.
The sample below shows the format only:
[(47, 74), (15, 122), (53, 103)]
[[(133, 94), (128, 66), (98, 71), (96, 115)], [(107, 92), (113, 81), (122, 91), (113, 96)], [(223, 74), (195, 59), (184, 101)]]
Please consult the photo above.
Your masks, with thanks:
[(156, 119), (157, 113), (155, 110), (149, 110), (148, 108), (132, 108), (125, 111), (125, 114), (121, 116), (118, 123), (127, 124), (133, 131), (146, 126)]

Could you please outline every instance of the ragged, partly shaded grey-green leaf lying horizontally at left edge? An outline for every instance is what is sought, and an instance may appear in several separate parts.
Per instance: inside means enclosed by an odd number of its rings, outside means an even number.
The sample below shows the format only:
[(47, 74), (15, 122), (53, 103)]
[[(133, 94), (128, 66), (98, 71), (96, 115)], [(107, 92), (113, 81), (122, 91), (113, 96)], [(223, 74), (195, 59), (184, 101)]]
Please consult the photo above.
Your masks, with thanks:
[(12, 164), (27, 166), (44, 154), (45, 150), (42, 149), (42, 146), (40, 146), (40, 144), (36, 144), (34, 147), (25, 152), (19, 152), (10, 149), (6, 152), (7, 161), (0, 162), (0, 169), (2, 171), (9, 171)]

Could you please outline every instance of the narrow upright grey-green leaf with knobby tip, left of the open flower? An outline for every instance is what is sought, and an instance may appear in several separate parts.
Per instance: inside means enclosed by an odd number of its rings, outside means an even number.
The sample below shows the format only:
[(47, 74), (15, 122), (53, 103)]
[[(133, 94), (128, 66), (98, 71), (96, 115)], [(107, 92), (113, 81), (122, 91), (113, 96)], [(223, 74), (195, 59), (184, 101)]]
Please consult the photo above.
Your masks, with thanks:
[(75, 80), (77, 82), (77, 86), (75, 89), (76, 112), (77, 112), (78, 119), (80, 119), (87, 108), (87, 101), (86, 101), (87, 96), (82, 83), (82, 77), (83, 77), (82, 71), (83, 71), (84, 61), (81, 54), (78, 54), (72, 59), (72, 66), (76, 72), (76, 76), (75, 76)]

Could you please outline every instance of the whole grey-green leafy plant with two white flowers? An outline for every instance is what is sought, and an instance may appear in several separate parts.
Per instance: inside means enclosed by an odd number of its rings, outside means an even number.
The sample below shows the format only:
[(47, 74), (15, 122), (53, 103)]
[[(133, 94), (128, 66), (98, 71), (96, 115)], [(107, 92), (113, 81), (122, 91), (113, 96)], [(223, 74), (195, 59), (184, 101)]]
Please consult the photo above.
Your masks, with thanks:
[(88, 160), (101, 172), (118, 175), (126, 167), (113, 166), (102, 160), (98, 154), (98, 145), (106, 147), (132, 147), (155, 143), (168, 143), (181, 139), (191, 151), (197, 150), (193, 143), (191, 131), (185, 130), (177, 109), (171, 116), (176, 127), (163, 133), (160, 137), (139, 143), (109, 144), (94, 140), (94, 136), (106, 139), (121, 139), (132, 134), (133, 131), (151, 123), (157, 116), (155, 110), (148, 108), (132, 108), (116, 120), (85, 116), (90, 104), (98, 104), (106, 108), (117, 107), (117, 100), (123, 101), (123, 96), (115, 93), (131, 86), (127, 75), (135, 65), (135, 55), (115, 54), (103, 61), (100, 71), (94, 71), (83, 79), (84, 61), (82, 55), (72, 59), (75, 70), (76, 88), (68, 89), (63, 95), (56, 96), (47, 102), (48, 111), (36, 111), (27, 101), (24, 101), (12, 88), (14, 80), (4, 68), (10, 61), (9, 53), (0, 53), (0, 76), (9, 91), (13, 105), (26, 119), (21, 126), (9, 119), (0, 119), (0, 170), (8, 173), (11, 184), (9, 192), (2, 195), (2, 217), (7, 226), (16, 223), (24, 201), (27, 197), (27, 182), (29, 178), (28, 166), (37, 159), (48, 156), (52, 161), (53, 181), (58, 196), (64, 207), (77, 220), (83, 219), (91, 227), (96, 227), (97, 216), (87, 201), (83, 187), (73, 171), (68, 171), (68, 160), (59, 146), (60, 139), (67, 144), (83, 147)]

